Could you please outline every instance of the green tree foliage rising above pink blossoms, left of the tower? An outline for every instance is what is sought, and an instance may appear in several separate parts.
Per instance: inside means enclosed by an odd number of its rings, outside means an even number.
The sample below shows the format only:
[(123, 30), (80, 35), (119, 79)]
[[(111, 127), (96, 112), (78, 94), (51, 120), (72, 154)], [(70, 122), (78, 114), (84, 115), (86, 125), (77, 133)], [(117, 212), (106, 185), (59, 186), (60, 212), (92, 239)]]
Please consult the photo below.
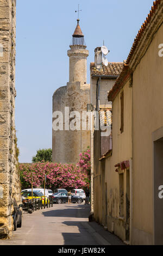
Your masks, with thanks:
[(39, 149), (36, 156), (33, 156), (32, 162), (52, 162), (52, 149)]

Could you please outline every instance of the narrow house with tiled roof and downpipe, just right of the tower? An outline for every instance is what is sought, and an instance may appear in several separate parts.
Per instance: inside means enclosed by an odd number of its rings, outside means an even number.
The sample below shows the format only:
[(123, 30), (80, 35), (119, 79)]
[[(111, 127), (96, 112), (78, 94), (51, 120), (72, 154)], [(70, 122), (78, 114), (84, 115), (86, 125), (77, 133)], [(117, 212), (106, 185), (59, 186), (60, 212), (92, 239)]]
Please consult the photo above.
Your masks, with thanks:
[[(95, 49), (95, 63), (90, 65), (91, 104), (94, 111), (110, 111), (112, 102), (108, 102), (108, 91), (114, 85), (118, 75), (120, 75), (123, 63), (109, 63), (108, 66), (101, 64), (101, 69), (97, 69), (96, 52), (100, 54), (101, 47)], [(101, 137), (101, 129), (96, 130), (94, 121), (93, 119), (91, 130), (91, 212), (93, 212), (97, 222), (104, 223), (102, 219), (105, 199), (99, 197), (102, 196), (101, 188), (105, 190), (105, 178), (100, 171), (101, 163), (99, 159), (103, 154), (108, 153), (111, 145), (109, 145), (109, 136)]]

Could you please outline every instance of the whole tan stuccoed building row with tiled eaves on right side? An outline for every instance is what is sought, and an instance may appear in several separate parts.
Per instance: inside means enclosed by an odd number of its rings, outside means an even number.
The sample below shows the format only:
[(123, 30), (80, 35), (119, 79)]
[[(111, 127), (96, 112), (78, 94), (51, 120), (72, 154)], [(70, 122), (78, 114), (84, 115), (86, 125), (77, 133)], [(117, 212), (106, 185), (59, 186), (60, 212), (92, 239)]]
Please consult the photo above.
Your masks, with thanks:
[(158, 0), (109, 91), (112, 150), (99, 159), (98, 184), (94, 180), (95, 195), (105, 202), (94, 199), (96, 220), (131, 245), (163, 244), (162, 35), (163, 1)]

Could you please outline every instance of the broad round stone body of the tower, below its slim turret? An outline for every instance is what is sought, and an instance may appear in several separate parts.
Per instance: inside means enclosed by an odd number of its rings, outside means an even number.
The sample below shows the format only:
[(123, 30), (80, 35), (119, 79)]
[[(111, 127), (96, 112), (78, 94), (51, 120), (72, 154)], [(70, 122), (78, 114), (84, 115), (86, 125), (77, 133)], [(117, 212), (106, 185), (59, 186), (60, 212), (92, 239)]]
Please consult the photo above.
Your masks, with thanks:
[[(53, 161), (61, 163), (76, 163), (79, 154), (90, 146), (90, 131), (82, 131), (82, 111), (90, 102), (90, 84), (80, 82), (67, 83), (66, 87), (59, 88), (53, 95), (53, 112), (61, 111), (65, 120), (65, 107), (80, 113), (80, 131), (53, 130)], [(65, 127), (65, 123), (64, 123)]]

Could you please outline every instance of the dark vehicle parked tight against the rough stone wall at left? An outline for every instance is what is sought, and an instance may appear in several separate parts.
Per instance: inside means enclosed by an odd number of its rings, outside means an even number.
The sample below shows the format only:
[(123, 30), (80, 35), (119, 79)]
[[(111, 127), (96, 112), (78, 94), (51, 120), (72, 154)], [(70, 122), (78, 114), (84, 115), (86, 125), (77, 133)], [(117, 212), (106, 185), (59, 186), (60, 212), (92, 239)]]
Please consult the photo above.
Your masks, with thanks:
[(16, 230), (17, 228), (21, 228), (22, 226), (22, 211), (20, 210), (20, 208), (22, 207), (22, 204), (17, 206), (16, 200), (14, 198), (13, 205), (14, 205), (14, 212), (12, 214), (12, 218), (14, 220), (14, 230)]

